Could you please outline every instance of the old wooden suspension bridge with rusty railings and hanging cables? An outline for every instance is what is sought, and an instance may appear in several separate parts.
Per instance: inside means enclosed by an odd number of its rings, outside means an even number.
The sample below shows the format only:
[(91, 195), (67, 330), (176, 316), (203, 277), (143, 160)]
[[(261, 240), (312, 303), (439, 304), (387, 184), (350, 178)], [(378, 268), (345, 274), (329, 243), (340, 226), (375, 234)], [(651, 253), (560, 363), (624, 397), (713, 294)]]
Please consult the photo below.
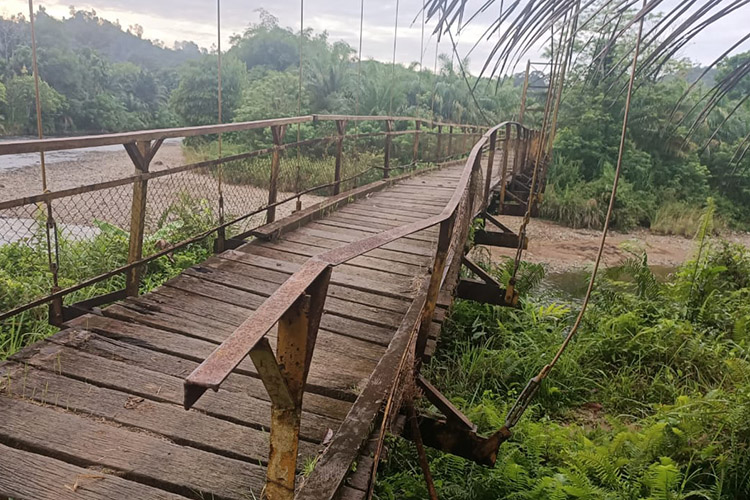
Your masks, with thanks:
[[(216, 125), (45, 139), (37, 105), (39, 138), (0, 143), (0, 158), (39, 154), (41, 190), (0, 201), (0, 241), (49, 286), (0, 321), (41, 315), (59, 331), (0, 364), (0, 498), (369, 499), (387, 433), (416, 443), (431, 498), (425, 446), (493, 465), (551, 365), (491, 436), (420, 367), (455, 298), (517, 305), (569, 24), (534, 63), (550, 68), (542, 85), (527, 65), (516, 121), (494, 125), (434, 113), (222, 123), (220, 24)], [(397, 28), (398, 14), (394, 66)], [(300, 37), (300, 96), (302, 67)], [(533, 113), (538, 130), (524, 126)], [(224, 155), (229, 133), (271, 142)], [(158, 160), (165, 141), (200, 137), (218, 139), (218, 157)], [(132, 175), (56, 187), (45, 154), (103, 146), (122, 147)], [(517, 233), (503, 215), (523, 216)], [(474, 245), (516, 249), (507, 286), (472, 261)], [(204, 260), (181, 265), (195, 249)], [(102, 254), (103, 271), (83, 265)], [(439, 416), (418, 414), (419, 397)]]

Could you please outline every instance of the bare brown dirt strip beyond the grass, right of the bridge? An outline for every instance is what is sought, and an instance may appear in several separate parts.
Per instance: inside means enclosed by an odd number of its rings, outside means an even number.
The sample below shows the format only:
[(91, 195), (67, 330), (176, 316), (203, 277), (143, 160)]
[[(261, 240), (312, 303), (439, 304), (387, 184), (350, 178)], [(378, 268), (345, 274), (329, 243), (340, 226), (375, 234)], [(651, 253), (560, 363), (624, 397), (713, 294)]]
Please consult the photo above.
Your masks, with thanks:
[[(517, 231), (522, 217), (500, 216), (500, 221)], [(601, 232), (591, 229), (571, 229), (543, 219), (531, 219), (527, 228), (529, 248), (524, 259), (545, 264), (550, 272), (586, 268), (593, 264), (599, 250)], [(724, 238), (750, 247), (750, 234), (731, 233)], [(629, 233), (610, 231), (602, 256), (605, 267), (616, 266), (631, 254), (628, 250), (646, 251), (652, 266), (675, 267), (689, 259), (694, 249), (692, 239), (665, 236), (639, 229)], [(510, 248), (490, 248), (493, 257), (515, 256)]]

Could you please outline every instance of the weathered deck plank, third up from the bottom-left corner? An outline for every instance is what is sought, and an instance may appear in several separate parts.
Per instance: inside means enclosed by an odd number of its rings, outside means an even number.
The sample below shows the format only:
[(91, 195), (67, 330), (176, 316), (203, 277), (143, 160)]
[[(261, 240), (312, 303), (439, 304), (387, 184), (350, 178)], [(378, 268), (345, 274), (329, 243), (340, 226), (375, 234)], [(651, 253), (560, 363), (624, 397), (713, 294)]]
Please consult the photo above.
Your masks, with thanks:
[[(15, 365), (15, 370), (10, 368), (11, 373), (6, 373), (0, 381), (0, 391), (6, 395), (143, 429), (183, 446), (238, 460), (267, 462), (270, 411), (265, 420), (257, 423), (264, 428), (259, 430), (196, 411), (186, 412), (179, 402), (169, 404), (133, 396), (22, 365)], [(314, 441), (320, 442), (325, 432), (323, 429), (316, 429)], [(309, 441), (309, 434), (306, 439), (308, 441), (300, 442), (300, 453), (305, 457), (314, 456), (317, 446)]]

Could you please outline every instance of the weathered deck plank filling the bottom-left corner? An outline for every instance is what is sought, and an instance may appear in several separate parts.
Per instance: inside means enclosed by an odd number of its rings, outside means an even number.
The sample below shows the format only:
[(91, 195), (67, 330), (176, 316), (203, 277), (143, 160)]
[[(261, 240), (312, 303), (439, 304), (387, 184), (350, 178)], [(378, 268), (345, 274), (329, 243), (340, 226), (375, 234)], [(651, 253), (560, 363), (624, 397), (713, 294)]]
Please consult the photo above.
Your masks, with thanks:
[(84, 469), (44, 455), (0, 445), (0, 497), (33, 500), (101, 500), (186, 497), (104, 471)]

